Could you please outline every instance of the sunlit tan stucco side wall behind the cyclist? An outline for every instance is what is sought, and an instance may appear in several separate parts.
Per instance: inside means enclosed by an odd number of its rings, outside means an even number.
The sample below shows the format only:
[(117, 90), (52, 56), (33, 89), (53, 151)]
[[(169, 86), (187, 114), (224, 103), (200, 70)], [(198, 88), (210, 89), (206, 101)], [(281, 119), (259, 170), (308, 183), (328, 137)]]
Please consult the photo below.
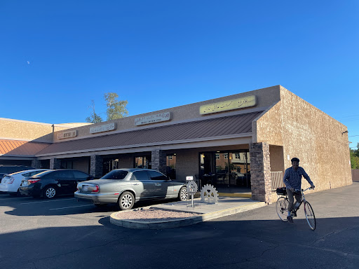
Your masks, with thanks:
[(285, 168), (291, 166), (291, 158), (299, 158), (316, 191), (352, 184), (348, 135), (342, 134), (345, 125), (282, 86), (280, 102), (267, 113), (257, 120), (256, 139), (282, 144)]

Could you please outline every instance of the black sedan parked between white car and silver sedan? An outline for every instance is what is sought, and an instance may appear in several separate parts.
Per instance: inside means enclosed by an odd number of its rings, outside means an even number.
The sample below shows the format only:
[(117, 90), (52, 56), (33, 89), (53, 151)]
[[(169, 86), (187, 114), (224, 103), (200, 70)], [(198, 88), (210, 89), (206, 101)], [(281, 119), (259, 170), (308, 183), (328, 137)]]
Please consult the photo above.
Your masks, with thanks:
[(74, 193), (79, 182), (89, 179), (93, 177), (79, 170), (50, 170), (22, 179), (20, 193), (33, 197), (54, 198), (59, 194)]

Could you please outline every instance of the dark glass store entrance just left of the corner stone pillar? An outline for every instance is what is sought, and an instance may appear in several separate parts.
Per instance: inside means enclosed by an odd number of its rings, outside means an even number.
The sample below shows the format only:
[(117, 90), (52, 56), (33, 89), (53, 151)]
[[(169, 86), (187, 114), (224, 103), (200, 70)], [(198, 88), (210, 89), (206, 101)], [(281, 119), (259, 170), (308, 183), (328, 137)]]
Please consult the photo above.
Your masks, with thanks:
[(201, 185), (212, 184), (217, 190), (246, 188), (250, 190), (250, 154), (241, 151), (200, 153)]

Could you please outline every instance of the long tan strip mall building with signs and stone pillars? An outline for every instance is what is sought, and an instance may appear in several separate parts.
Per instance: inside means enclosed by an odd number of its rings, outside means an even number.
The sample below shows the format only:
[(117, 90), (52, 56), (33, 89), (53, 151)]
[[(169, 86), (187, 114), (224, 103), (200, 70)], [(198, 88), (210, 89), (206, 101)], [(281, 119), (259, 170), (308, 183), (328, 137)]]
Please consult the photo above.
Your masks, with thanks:
[[(97, 124), (0, 118), (0, 164), (102, 177), (149, 167), (271, 202), (298, 157), (316, 191), (352, 184), (346, 126), (280, 85)], [(307, 185), (304, 180), (304, 186)]]

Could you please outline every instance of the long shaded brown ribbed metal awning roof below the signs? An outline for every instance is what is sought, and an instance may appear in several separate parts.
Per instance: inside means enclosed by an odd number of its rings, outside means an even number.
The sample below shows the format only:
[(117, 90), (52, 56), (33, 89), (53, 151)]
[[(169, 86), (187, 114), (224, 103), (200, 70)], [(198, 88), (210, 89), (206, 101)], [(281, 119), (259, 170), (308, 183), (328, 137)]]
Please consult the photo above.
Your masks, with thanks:
[(175, 144), (179, 141), (188, 140), (191, 142), (193, 139), (208, 138), (208, 140), (210, 140), (213, 137), (238, 135), (252, 132), (252, 120), (257, 118), (262, 112), (263, 111), (188, 123), (177, 123), (161, 127), (149, 127), (142, 130), (103, 135), (101, 137), (58, 142), (51, 144), (36, 155), (126, 146), (143, 146), (144, 144), (161, 144), (165, 142), (173, 142), (173, 144)]

